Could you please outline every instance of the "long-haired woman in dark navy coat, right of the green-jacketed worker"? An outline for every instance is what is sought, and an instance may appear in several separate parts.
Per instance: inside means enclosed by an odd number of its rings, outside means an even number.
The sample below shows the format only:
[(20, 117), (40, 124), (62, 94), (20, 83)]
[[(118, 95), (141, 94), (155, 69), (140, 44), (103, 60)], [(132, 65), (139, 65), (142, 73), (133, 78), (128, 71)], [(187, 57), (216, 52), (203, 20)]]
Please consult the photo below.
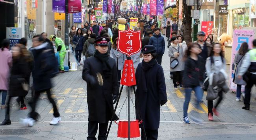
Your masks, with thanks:
[[(90, 29), (87, 31), (87, 33), (91, 31)], [(76, 60), (78, 61), (78, 63), (80, 63), (81, 61), (81, 54), (83, 51), (83, 44), (85, 42), (85, 39), (83, 37), (83, 32), (81, 28), (78, 28), (76, 31), (76, 35), (74, 35), (73, 40), (72, 40), (73, 44), (76, 44), (76, 48), (75, 48), (75, 52), (76, 52)]]

